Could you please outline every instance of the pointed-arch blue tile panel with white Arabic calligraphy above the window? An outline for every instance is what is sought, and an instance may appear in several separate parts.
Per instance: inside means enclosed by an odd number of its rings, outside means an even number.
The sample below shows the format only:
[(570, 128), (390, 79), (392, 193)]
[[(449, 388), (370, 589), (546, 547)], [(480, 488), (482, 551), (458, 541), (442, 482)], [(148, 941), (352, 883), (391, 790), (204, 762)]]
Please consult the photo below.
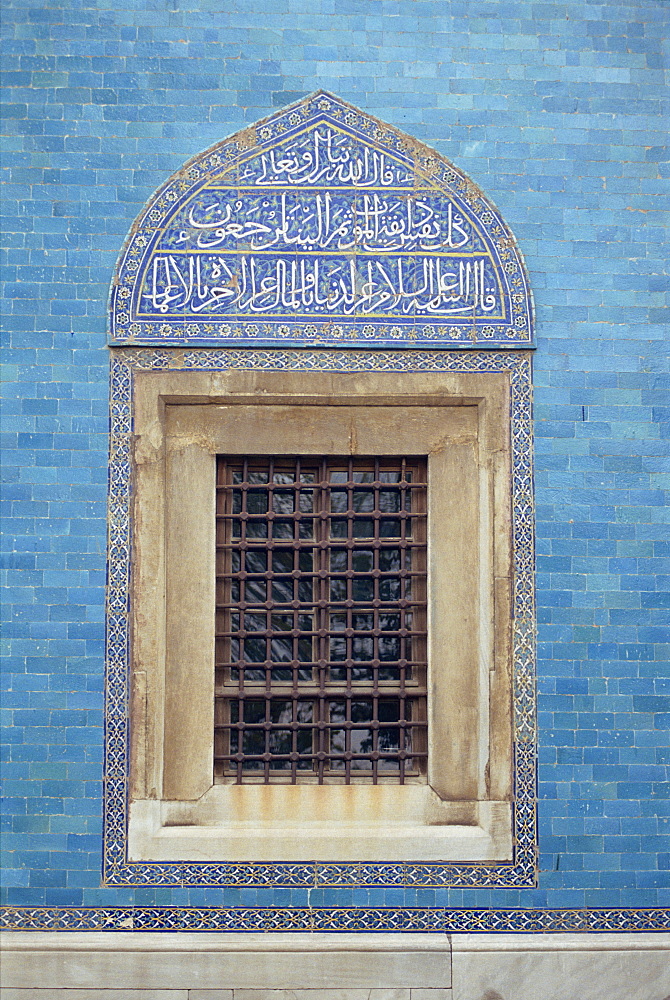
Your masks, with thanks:
[(135, 223), (110, 343), (531, 346), (496, 209), (433, 150), (318, 92), (206, 151)]

